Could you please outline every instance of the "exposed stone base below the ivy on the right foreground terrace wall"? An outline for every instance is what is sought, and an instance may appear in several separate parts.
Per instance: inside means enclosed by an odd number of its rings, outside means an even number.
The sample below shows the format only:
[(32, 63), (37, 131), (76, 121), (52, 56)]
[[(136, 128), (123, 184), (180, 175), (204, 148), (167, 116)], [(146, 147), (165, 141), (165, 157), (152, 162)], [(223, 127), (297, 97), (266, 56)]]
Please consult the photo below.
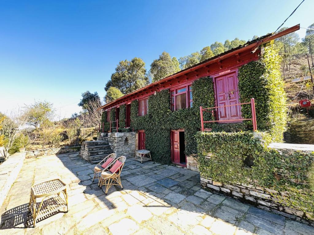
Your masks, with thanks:
[(311, 221), (309, 224), (314, 226), (314, 214), (309, 212), (302, 212), (299, 210), (286, 207), (279, 203), (278, 199), (273, 197), (272, 194), (287, 195), (288, 192), (278, 192), (268, 188), (254, 187), (249, 184), (224, 184), (221, 182), (213, 181), (201, 177), (201, 185), (203, 188), (207, 188), (210, 191), (217, 191), (227, 196), (236, 198), (240, 201), (248, 202), (254, 206), (257, 206), (263, 210), (271, 211), (285, 217), (300, 221)]

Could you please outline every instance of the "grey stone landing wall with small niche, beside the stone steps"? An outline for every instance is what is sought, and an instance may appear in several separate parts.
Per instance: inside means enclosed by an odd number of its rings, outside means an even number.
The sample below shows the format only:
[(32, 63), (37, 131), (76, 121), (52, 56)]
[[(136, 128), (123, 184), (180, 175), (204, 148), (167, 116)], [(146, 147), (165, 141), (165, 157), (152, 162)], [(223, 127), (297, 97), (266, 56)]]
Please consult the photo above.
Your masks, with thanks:
[(135, 157), (135, 132), (108, 133), (108, 142), (117, 157)]

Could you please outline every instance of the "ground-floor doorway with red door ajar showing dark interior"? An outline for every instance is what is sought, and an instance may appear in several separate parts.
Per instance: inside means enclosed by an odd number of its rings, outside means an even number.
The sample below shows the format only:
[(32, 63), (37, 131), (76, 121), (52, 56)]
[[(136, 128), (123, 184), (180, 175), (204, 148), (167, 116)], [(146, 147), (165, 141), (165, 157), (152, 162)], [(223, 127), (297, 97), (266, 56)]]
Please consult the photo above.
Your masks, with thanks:
[(171, 149), (172, 162), (186, 166), (184, 130), (171, 131)]

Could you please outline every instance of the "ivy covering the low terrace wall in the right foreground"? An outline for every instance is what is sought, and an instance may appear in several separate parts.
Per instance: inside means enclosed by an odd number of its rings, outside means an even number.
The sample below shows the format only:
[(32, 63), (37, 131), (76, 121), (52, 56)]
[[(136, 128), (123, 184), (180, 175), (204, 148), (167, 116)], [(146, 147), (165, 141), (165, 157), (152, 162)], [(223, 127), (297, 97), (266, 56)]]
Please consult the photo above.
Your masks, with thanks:
[[(314, 152), (270, 149), (252, 132), (198, 132), (196, 139), (202, 177), (287, 191), (272, 196), (292, 208), (314, 212)], [(252, 166), (248, 158), (253, 161)]]

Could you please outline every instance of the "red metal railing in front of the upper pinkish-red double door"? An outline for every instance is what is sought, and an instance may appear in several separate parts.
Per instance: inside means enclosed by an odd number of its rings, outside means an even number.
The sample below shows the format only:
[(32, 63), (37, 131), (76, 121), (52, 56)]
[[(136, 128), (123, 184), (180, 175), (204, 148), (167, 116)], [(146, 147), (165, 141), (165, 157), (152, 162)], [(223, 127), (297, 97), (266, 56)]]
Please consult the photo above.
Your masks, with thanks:
[[(214, 109), (219, 109), (222, 107), (231, 107), (231, 106), (238, 106), (243, 104), (251, 104), (251, 112), (252, 112), (252, 118), (239, 118), (239, 119), (229, 119), (229, 120), (214, 120), (214, 121), (204, 121), (203, 119), (203, 111), (204, 112), (211, 112), (214, 117)], [(211, 111), (208, 111), (210, 110)], [(244, 120), (252, 120), (253, 123), (253, 131), (257, 131), (257, 123), (256, 123), (256, 113), (255, 113), (255, 102), (254, 98), (251, 99), (251, 102), (246, 103), (240, 103), (240, 104), (231, 104), (231, 105), (224, 105), (219, 107), (211, 107), (211, 108), (203, 108), (202, 106), (199, 107), (200, 113), (201, 113), (201, 125), (202, 125), (202, 131), (204, 131), (204, 123), (213, 123), (213, 122), (236, 122), (236, 121), (244, 121)], [(215, 117), (214, 117), (215, 118)]]

